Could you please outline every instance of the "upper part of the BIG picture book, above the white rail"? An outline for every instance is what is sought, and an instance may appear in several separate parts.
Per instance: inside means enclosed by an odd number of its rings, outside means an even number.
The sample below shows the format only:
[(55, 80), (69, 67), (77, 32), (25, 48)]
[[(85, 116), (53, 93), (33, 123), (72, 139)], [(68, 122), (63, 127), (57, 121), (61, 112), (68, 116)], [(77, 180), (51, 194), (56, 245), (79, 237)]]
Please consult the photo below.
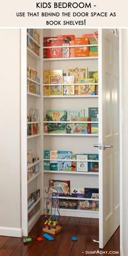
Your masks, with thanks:
[(67, 121), (67, 111), (47, 110), (47, 121)]

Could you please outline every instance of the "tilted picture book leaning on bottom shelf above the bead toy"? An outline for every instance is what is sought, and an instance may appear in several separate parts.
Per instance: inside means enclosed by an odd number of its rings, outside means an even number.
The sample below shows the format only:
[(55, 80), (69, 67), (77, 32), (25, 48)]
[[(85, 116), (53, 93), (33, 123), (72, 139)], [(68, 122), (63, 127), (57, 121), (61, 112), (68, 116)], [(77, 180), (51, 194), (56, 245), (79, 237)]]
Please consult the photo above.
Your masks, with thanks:
[(70, 195), (70, 180), (49, 180), (49, 186), (57, 188), (63, 195)]

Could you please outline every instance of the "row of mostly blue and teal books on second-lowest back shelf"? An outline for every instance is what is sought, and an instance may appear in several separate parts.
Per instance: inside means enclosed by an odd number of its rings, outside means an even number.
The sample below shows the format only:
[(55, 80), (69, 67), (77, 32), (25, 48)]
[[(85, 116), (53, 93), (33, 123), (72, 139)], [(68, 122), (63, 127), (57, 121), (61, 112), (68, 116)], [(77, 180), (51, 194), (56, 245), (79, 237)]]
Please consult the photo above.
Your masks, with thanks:
[(99, 161), (93, 162), (92, 160), (99, 160), (99, 155), (44, 150), (43, 167), (45, 171), (98, 172)]

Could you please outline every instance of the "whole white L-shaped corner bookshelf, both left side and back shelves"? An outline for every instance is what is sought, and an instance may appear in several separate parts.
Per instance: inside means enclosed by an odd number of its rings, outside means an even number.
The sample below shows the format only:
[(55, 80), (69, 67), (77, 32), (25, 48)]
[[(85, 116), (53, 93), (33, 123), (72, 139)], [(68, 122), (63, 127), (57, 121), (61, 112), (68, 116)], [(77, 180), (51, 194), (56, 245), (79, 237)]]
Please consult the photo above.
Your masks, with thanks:
[[(26, 150), (24, 155), (24, 170), (22, 171), (22, 180), (25, 180), (25, 190), (22, 192), (22, 228), (23, 234), (28, 235), (29, 230), (34, 226), (37, 219), (41, 214), (46, 211), (46, 196), (44, 196), (44, 186), (49, 185), (49, 179), (59, 179), (59, 180), (70, 180), (71, 188), (98, 188), (99, 187), (99, 173), (94, 172), (66, 172), (66, 171), (45, 171), (43, 170), (43, 150), (57, 150), (57, 151), (72, 151), (75, 153), (94, 153), (98, 154), (98, 148), (94, 148), (94, 144), (98, 144), (98, 134), (46, 134), (44, 133), (44, 118), (46, 117), (47, 110), (53, 109), (85, 109), (85, 116), (88, 116), (88, 107), (98, 107), (98, 95), (74, 95), (74, 96), (44, 96), (43, 95), (43, 70), (63, 70), (66, 73), (67, 67), (88, 67), (89, 71), (98, 71), (98, 61), (99, 57), (74, 57), (74, 58), (51, 58), (43, 59), (43, 37), (46, 36), (56, 36), (65, 34), (74, 34), (75, 37), (81, 37), (82, 34), (94, 33), (97, 29), (37, 29), (40, 34), (40, 43), (37, 44), (40, 47), (40, 55), (35, 54), (31, 49), (25, 46), (24, 40), (22, 41), (22, 51), (24, 53), (27, 51), (27, 64), (26, 70), (29, 66), (35, 68), (40, 77), (40, 82), (27, 77), (27, 83), (34, 83), (40, 86), (40, 94), (31, 93), (27, 91), (25, 85), (21, 91), (21, 99), (23, 95), (23, 113), (25, 116), (22, 117), (22, 123), (24, 127), (23, 140), (25, 141)], [(27, 36), (27, 32), (22, 30), (22, 38)], [(29, 36), (29, 35), (28, 35)], [(30, 36), (30, 39), (33, 38)], [(34, 40), (34, 43), (35, 40)], [(44, 47), (46, 48), (46, 47)], [(24, 67), (23, 67), (24, 70)], [(100, 74), (99, 74), (100, 76)], [(23, 83), (26, 84), (25, 79)], [(51, 86), (51, 84), (48, 84)], [(62, 84), (63, 85), (63, 84)], [(76, 84), (75, 84), (76, 85)], [(24, 100), (24, 95), (27, 95), (26, 102)], [(31, 108), (37, 108), (40, 111), (40, 121), (31, 122), (27, 121), (27, 116)], [(26, 120), (25, 120), (26, 118)], [(25, 125), (24, 125), (25, 123)], [(40, 132), (34, 135), (28, 135), (26, 132), (26, 127), (29, 124), (40, 125)], [(88, 123), (88, 122), (85, 122)], [(23, 130), (22, 130), (23, 134)], [(22, 141), (23, 141), (22, 140)], [(24, 147), (22, 148), (24, 150)], [(39, 157), (35, 163), (27, 166), (27, 152), (32, 150), (34, 155)], [(28, 179), (27, 171), (36, 164), (39, 164), (39, 173), (35, 174), (33, 177)], [(23, 167), (22, 167), (23, 168)], [(79, 184), (79, 185), (78, 185)], [(30, 218), (28, 222), (28, 197), (31, 192), (36, 189), (40, 189), (40, 198), (38, 199), (40, 204), (40, 209), (37, 213)], [(74, 197), (66, 197), (67, 199), (73, 199)], [(62, 199), (60, 197), (60, 199)], [(75, 198), (80, 199), (80, 198)], [(88, 198), (81, 198), (82, 200)], [(36, 202), (38, 202), (38, 200)], [(35, 203), (36, 204), (36, 203)], [(34, 205), (35, 205), (34, 204)], [(98, 211), (85, 211), (80, 209), (60, 209), (60, 214), (63, 216), (81, 216), (81, 217), (99, 217)]]

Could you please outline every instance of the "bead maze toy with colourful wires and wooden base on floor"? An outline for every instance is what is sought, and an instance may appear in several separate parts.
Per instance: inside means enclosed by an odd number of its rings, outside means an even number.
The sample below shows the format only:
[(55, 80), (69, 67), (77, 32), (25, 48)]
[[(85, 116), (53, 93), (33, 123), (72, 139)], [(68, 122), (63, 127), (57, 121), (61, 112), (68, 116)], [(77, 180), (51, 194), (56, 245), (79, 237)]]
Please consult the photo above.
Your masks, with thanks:
[[(50, 208), (50, 210), (49, 210)], [(54, 213), (52, 211), (54, 209)], [(50, 216), (48, 215), (50, 211)], [(56, 215), (57, 214), (57, 215)], [(46, 221), (43, 224), (43, 231), (56, 234), (61, 231), (62, 227), (59, 222), (60, 218), (60, 203), (56, 196), (48, 196), (46, 199), (46, 213), (44, 214)]]

